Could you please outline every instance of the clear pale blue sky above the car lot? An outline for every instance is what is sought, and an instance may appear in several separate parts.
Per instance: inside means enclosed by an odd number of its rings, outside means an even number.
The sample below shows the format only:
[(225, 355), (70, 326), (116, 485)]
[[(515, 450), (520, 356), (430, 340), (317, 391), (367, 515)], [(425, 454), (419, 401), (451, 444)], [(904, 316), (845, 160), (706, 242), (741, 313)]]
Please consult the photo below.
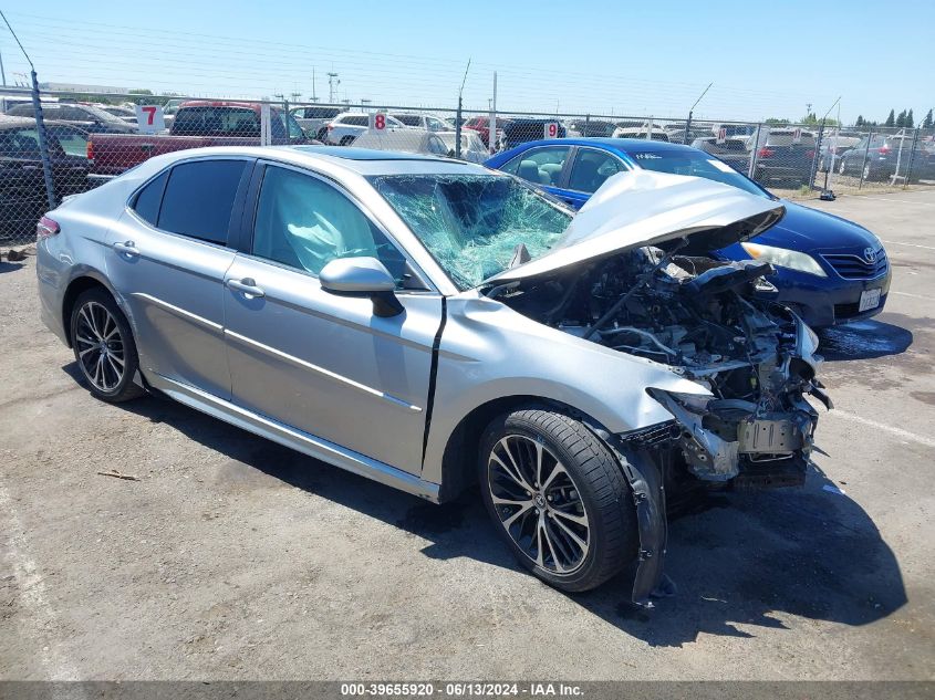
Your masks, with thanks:
[[(43, 82), (260, 97), (845, 122), (935, 105), (935, 0), (0, 0)], [(6, 28), (7, 80), (25, 63)], [(832, 116), (837, 114), (837, 108)]]

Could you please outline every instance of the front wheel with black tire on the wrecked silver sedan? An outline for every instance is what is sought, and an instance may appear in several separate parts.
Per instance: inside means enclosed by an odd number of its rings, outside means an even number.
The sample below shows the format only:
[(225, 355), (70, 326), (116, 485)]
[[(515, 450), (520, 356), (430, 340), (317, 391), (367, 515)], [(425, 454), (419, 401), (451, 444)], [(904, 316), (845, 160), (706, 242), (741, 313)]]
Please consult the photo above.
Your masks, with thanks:
[[(536, 483), (536, 493), (528, 491), (526, 494), (533, 499), (530, 503), (536, 504), (534, 512), (531, 505), (503, 504), (503, 499), (510, 495), (503, 490), (505, 484), (517, 493), (522, 487), (517, 488), (516, 479), (510, 481), (505, 478), (506, 472), (491, 456), (497, 449), (498, 459), (509, 457), (502, 451), (502, 440), (511, 451), (530, 457), (533, 462), (537, 446), (541, 446), (543, 461), (540, 463), (548, 464), (554, 459), (555, 466), (551, 470), (561, 468), (564, 472), (553, 477), (550, 470), (546, 476), (544, 470), (549, 467), (540, 467), (543, 488)], [(614, 455), (580, 421), (548, 408), (533, 407), (499, 416), (481, 437), (478, 471), (480, 491), (495, 527), (519, 562), (548, 584), (567, 592), (589, 591), (635, 560), (636, 515), (630, 485)], [(534, 473), (527, 476), (536, 477)], [(495, 491), (500, 495), (495, 497)], [(495, 504), (495, 498), (498, 498), (499, 505)], [(529, 510), (522, 513), (523, 508)], [(560, 516), (557, 512), (565, 514)], [(567, 520), (569, 515), (583, 518), (586, 527)], [(513, 523), (508, 525), (510, 520)], [(543, 527), (547, 535), (544, 545), (539, 527)], [(569, 531), (586, 542), (586, 551), (574, 545), (573, 539), (567, 534)], [(538, 545), (544, 555), (538, 554), (533, 532), (540, 536)], [(526, 539), (523, 533), (530, 537), (528, 545), (522, 542)], [(578, 554), (579, 558), (565, 557), (568, 551)], [(568, 564), (564, 571), (562, 562)]]

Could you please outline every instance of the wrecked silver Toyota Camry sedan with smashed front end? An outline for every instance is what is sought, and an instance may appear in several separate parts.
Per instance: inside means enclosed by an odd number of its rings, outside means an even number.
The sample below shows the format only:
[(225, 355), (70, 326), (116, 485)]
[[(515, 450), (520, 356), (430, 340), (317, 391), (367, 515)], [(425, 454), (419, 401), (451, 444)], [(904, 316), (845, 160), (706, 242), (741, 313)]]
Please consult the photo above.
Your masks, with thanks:
[(101, 399), (144, 393), (435, 502), (479, 482), (564, 591), (671, 592), (666, 511), (799, 485), (814, 334), (707, 251), (781, 203), (612, 177), (573, 216), (512, 176), (354, 148), (153, 158), (49, 212), (43, 320)]

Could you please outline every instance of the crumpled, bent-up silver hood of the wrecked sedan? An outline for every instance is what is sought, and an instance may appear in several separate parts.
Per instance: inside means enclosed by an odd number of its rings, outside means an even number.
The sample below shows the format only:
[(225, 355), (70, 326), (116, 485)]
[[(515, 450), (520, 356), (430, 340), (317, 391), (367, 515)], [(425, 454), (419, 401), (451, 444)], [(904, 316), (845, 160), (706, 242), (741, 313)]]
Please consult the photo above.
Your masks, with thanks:
[(776, 223), (782, 203), (698, 177), (632, 170), (609, 178), (544, 255), (490, 278), (508, 282), (687, 238), (683, 252), (705, 254)]

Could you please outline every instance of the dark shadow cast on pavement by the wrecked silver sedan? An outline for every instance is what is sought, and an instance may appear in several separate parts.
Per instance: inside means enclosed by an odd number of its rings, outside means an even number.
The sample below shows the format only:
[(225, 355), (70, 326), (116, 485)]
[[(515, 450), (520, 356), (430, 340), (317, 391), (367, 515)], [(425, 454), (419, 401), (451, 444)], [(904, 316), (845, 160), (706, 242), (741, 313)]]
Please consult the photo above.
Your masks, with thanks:
[[(226, 455), (232, 470), (260, 470), (426, 539), (428, 557), (519, 568), (476, 490), (435, 505), (167, 399), (121, 406)], [(628, 603), (626, 575), (571, 599), (652, 646), (681, 646), (700, 633), (755, 637), (756, 627), (785, 628), (788, 615), (854, 626), (881, 619), (906, 602), (895, 556), (863, 509), (825, 485), (833, 484), (812, 468), (804, 490), (704, 498), (671, 525), (666, 571), (679, 591), (654, 610)], [(529, 585), (543, 584), (530, 577)]]

